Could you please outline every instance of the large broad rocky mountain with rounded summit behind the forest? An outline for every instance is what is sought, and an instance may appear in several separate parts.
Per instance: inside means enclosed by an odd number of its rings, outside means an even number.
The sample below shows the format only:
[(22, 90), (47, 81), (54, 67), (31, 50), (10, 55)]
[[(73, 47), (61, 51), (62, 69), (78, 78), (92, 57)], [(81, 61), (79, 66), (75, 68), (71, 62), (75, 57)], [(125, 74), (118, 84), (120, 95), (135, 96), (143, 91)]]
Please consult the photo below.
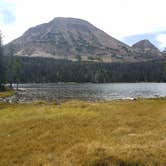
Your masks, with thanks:
[[(82, 60), (132, 62), (138, 61), (137, 47), (137, 45), (129, 47), (87, 21), (58, 17), (30, 28), (21, 37), (7, 44), (4, 50), (9, 54), (12, 48), (17, 56), (69, 60), (76, 60), (79, 57)], [(146, 57), (141, 56), (139, 60), (145, 59)]]

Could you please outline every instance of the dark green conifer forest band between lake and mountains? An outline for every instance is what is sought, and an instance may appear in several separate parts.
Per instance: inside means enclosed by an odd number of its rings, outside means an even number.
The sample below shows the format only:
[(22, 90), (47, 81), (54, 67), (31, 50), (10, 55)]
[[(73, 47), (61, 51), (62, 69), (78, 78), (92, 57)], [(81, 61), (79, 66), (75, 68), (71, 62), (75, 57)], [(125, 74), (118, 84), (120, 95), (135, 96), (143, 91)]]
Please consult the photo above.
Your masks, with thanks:
[[(5, 57), (6, 62), (10, 57)], [(166, 63), (148, 61), (139, 63), (72, 62), (50, 58), (20, 57), (20, 72), (14, 82), (165, 82)], [(10, 72), (6, 73), (11, 78)]]

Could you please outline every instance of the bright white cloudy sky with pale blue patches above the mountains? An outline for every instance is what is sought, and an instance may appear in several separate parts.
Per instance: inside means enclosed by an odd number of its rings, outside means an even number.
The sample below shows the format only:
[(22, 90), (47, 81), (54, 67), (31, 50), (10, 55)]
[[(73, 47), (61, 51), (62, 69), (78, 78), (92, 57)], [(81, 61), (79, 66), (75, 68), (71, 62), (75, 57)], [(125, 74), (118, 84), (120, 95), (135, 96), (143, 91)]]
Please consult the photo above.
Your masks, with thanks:
[(165, 8), (166, 0), (0, 0), (0, 30), (6, 44), (30, 27), (55, 17), (73, 17), (129, 45), (148, 39), (162, 50)]

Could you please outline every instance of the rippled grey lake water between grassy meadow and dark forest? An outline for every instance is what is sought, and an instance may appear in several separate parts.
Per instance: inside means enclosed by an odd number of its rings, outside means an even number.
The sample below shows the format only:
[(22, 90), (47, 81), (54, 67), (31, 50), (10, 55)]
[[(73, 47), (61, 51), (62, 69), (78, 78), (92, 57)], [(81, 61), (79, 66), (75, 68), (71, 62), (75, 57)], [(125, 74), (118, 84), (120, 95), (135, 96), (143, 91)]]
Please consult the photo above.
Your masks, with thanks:
[(20, 102), (34, 100), (87, 101), (114, 100), (126, 98), (153, 98), (166, 96), (166, 83), (52, 83), (20, 84), (15, 99)]

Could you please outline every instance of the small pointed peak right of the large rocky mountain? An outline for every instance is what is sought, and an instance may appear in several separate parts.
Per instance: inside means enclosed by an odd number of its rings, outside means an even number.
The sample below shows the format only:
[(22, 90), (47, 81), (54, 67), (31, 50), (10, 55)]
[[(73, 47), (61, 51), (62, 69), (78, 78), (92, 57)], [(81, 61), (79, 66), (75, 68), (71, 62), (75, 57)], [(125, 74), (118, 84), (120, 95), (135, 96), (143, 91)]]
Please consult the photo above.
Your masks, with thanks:
[(162, 58), (160, 50), (149, 40), (141, 40), (132, 46), (133, 50), (146, 58)]

